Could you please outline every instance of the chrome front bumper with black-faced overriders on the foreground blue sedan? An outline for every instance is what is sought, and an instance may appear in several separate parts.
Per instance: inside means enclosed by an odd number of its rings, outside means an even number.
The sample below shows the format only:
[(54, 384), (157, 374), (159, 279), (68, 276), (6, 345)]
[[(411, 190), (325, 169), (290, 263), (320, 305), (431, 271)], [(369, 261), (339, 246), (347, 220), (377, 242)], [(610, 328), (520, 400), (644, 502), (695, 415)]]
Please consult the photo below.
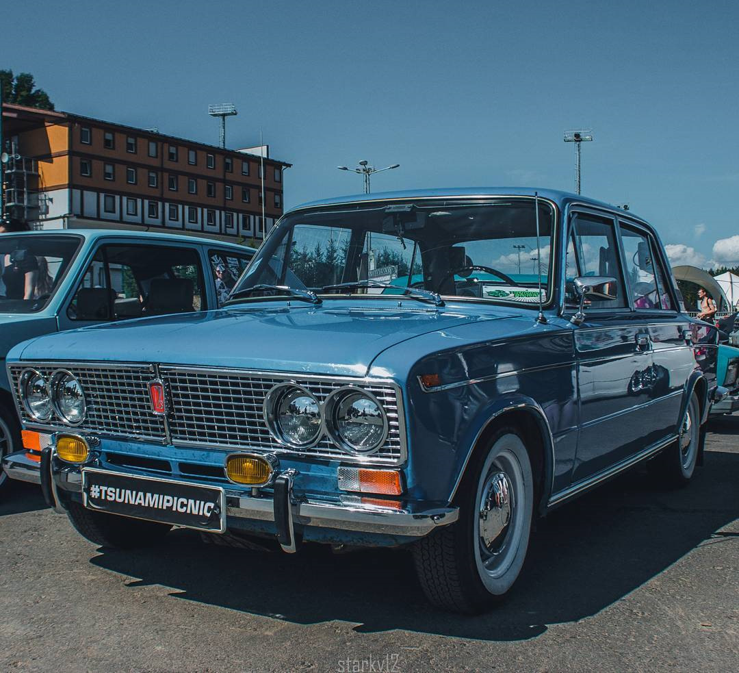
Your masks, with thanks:
[[(65, 435), (69, 436), (68, 433)], [(92, 445), (94, 442), (95, 440), (89, 444)], [(83, 490), (82, 470), (85, 467), (95, 467), (95, 471), (103, 471), (100, 469), (99, 456), (98, 450), (91, 449), (89, 458), (84, 464), (69, 464), (56, 455), (56, 436), (53, 436), (52, 444), (41, 453), (39, 466), (41, 490), (47, 504), (56, 512), (64, 513), (65, 501), (69, 499), (66, 493), (71, 495), (81, 493)], [(104, 471), (120, 476), (138, 476), (136, 473)], [(236, 490), (234, 488), (236, 484), (234, 487), (226, 486), (227, 520), (240, 518), (273, 523), (282, 549), (285, 552), (295, 552), (299, 547), (297, 526), (400, 538), (421, 538), (437, 527), (452, 524), (459, 518), (457, 507), (434, 507), (412, 511), (296, 496), (293, 487), (299, 477), (299, 470), (290, 468), (280, 471), (278, 468), (275, 470), (274, 478), (270, 480), (271, 494), (262, 492), (260, 488)], [(157, 481), (172, 483), (174, 480), (157, 477)], [(192, 480), (191, 483), (197, 485), (197, 481)]]

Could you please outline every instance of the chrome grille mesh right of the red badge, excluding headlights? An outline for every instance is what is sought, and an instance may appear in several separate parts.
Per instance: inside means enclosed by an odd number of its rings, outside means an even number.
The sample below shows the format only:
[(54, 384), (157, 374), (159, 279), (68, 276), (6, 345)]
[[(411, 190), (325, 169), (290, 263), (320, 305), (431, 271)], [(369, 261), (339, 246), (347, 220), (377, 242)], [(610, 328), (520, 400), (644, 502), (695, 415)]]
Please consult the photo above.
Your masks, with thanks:
[[(285, 381), (295, 382), (310, 390), (322, 404), (329, 393), (350, 382), (348, 379), (198, 368), (162, 367), (160, 373), (171, 395), (173, 413), (169, 430), (174, 444), (270, 450), (285, 450), (270, 435), (262, 415), (262, 403), (270, 388)], [(368, 456), (367, 461), (401, 461), (398, 392), (392, 384), (384, 382), (367, 382), (365, 379), (357, 385), (377, 397), (385, 408), (389, 423), (386, 442), (377, 453)], [(350, 458), (327, 436), (321, 438), (316, 446), (293, 453)]]

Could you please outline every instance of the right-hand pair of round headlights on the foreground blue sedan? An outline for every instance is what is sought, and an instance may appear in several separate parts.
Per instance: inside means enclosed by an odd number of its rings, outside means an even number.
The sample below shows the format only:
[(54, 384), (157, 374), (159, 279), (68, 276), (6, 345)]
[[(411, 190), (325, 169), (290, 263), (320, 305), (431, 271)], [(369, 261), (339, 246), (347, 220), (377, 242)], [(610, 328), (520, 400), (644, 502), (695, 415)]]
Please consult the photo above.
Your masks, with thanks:
[(265, 397), (272, 436), (297, 450), (314, 446), (324, 432), (347, 453), (374, 453), (387, 437), (387, 416), (371, 393), (355, 386), (334, 390), (323, 406), (309, 390), (280, 383)]

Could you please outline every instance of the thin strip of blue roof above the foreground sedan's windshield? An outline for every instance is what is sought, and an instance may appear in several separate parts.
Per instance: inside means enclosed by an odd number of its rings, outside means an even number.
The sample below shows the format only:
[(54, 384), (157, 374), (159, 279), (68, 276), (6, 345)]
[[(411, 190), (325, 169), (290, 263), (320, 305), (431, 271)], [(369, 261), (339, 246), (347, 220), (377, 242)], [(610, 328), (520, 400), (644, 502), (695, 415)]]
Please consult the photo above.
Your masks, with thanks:
[(443, 197), (463, 198), (463, 197), (508, 197), (508, 196), (528, 196), (533, 197), (535, 194), (544, 199), (554, 201), (560, 208), (568, 203), (582, 203), (586, 206), (594, 206), (600, 209), (608, 209), (618, 211), (636, 220), (641, 217), (636, 216), (631, 211), (620, 209), (611, 203), (599, 201), (572, 192), (562, 192), (558, 189), (539, 189), (537, 187), (446, 187), (435, 189), (403, 189), (396, 192), (372, 192), (372, 194), (355, 194), (316, 201), (302, 203), (296, 208), (290, 209), (290, 212), (302, 210), (304, 208), (319, 208), (321, 206), (333, 206), (344, 203), (363, 203), (369, 201), (386, 201), (386, 200), (405, 200), (429, 198), (437, 199)]

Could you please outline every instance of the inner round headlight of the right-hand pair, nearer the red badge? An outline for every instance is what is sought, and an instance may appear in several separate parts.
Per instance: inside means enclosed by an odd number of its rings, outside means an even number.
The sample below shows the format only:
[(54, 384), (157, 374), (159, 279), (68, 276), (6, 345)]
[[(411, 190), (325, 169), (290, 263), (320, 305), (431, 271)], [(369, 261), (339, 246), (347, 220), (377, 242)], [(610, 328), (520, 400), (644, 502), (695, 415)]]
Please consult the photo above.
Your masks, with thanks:
[(283, 383), (265, 398), (265, 420), (272, 436), (281, 444), (304, 449), (321, 436), (321, 406), (305, 388)]

